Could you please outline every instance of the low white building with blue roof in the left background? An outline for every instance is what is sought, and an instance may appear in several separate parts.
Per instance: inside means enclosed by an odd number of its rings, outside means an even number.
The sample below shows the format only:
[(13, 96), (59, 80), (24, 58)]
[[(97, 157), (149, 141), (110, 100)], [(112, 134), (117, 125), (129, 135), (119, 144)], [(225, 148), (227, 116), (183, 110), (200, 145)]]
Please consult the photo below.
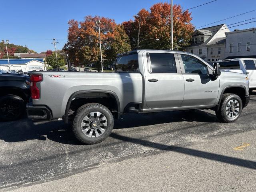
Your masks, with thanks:
[[(45, 70), (43, 58), (9, 59), (9, 62), (11, 70), (22, 70), (23, 72)], [(0, 70), (9, 70), (8, 59), (0, 59)]]

